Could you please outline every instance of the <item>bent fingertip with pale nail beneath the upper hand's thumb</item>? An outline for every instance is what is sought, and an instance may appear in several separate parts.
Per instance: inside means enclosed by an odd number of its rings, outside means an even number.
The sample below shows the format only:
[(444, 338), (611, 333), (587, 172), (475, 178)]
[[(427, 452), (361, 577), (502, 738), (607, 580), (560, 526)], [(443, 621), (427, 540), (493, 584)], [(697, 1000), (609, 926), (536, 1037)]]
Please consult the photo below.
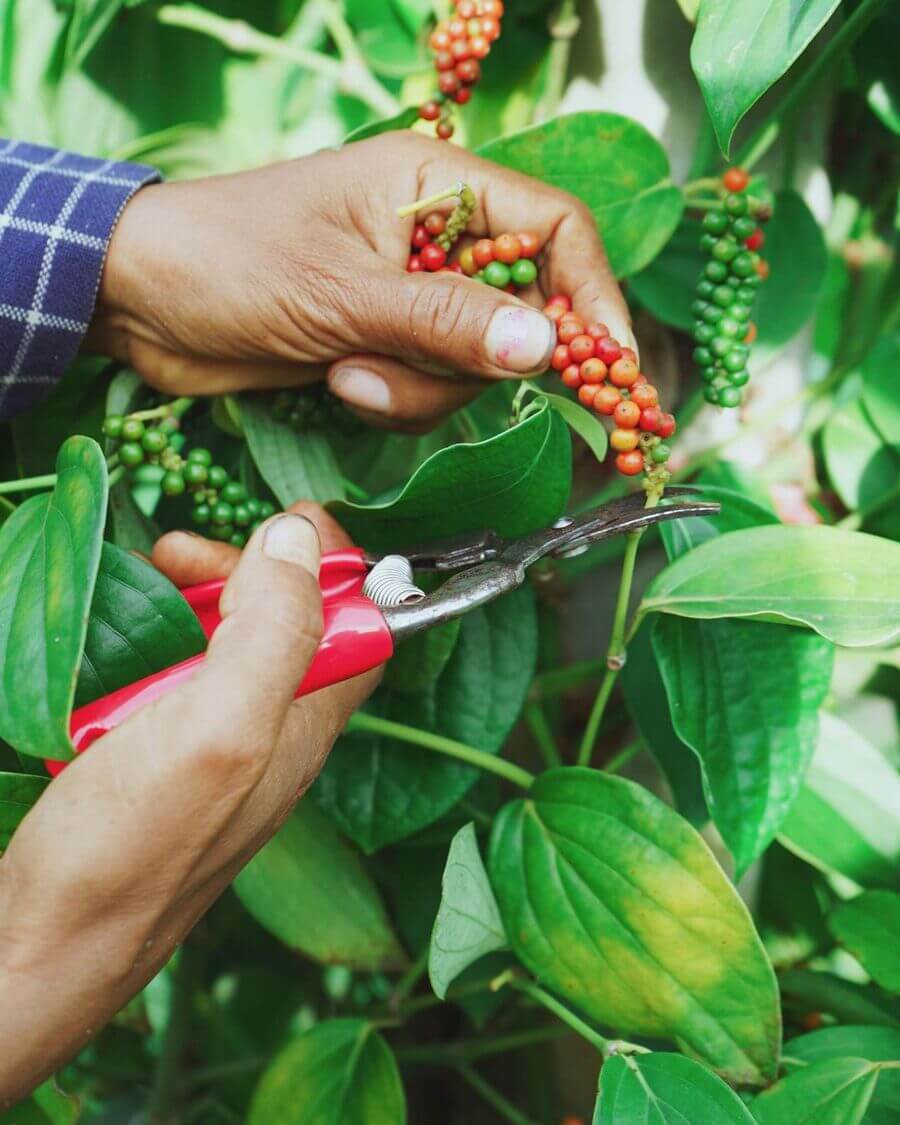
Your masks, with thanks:
[(370, 425), (425, 433), (485, 388), (482, 379), (416, 371), (382, 356), (346, 356), (328, 371), (328, 390)]

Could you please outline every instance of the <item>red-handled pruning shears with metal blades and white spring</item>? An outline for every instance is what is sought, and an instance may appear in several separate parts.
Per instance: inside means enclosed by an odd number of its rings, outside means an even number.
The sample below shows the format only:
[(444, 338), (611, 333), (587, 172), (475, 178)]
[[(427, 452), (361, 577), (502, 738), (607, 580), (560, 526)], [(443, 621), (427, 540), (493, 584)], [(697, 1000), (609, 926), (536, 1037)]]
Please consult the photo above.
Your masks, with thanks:
[[(692, 494), (690, 488), (669, 488), (662, 504), (648, 508), (644, 495), (633, 493), (519, 539), (487, 531), (405, 555), (372, 556), (358, 548), (324, 555), (320, 569), (324, 631), (297, 696), (369, 672), (389, 660), (395, 644), (405, 637), (521, 586), (526, 569), (539, 559), (570, 557), (612, 536), (719, 511), (716, 503), (688, 498)], [(412, 580), (416, 569), (450, 577), (425, 594)], [(182, 590), (207, 638), (222, 620), (218, 601), (224, 585), (222, 579)], [(184, 683), (202, 660), (202, 654), (182, 660), (79, 708), (70, 723), (75, 750), (87, 749), (135, 711)], [(47, 768), (56, 774), (63, 765), (48, 762)]]

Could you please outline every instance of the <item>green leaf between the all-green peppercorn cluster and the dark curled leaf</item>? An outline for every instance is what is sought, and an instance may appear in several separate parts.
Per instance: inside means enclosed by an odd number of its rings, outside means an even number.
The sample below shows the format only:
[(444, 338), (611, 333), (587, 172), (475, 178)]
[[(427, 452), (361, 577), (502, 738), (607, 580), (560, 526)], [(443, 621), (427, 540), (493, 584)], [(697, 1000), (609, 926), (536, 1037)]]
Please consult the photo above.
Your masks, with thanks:
[(276, 422), (269, 403), (259, 395), (241, 395), (240, 402), (253, 461), (285, 507), (298, 500), (324, 504), (343, 497), (343, 477), (324, 433), (297, 433), (287, 423)]

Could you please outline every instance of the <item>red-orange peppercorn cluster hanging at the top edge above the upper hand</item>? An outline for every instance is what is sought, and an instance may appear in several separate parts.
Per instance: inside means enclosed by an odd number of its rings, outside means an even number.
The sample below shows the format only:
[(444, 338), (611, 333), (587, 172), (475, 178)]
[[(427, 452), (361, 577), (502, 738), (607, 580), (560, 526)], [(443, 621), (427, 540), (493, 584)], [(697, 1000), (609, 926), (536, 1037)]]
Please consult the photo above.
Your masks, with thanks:
[(453, 106), (465, 106), (482, 76), (482, 60), (500, 38), (503, 0), (452, 0), (453, 14), (442, 19), (429, 43), (438, 72), (439, 93), (418, 110), (424, 122), (436, 122), (442, 141), (453, 135)]

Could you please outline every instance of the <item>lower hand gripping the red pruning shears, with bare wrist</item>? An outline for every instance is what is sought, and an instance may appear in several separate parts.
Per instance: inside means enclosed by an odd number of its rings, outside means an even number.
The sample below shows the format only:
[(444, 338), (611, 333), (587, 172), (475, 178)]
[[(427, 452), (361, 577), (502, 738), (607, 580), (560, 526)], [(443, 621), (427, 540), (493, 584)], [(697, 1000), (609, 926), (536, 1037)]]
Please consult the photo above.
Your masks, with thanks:
[[(349, 544), (321, 510), (327, 549)], [(231, 572), (202, 668), (72, 762), (0, 860), (0, 1108), (165, 964), (312, 784), (377, 674), (294, 700), (317, 647), (320, 539), (270, 520), (243, 554), (176, 532), (177, 582)]]

